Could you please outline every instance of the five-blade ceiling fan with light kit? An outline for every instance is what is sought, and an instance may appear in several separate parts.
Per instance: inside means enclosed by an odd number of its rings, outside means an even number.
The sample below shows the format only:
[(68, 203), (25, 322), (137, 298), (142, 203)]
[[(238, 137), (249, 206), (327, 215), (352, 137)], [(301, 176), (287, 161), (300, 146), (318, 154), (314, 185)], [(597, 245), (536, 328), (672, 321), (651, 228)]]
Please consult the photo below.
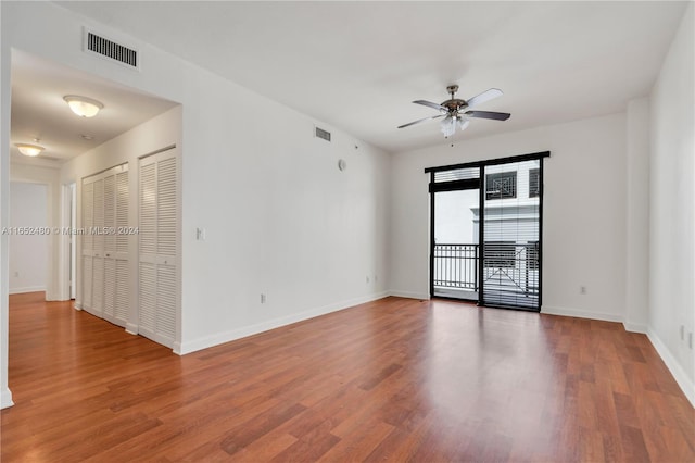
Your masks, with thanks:
[(403, 124), (399, 126), (399, 128), (408, 127), (410, 125), (419, 124), (432, 118), (444, 117), (441, 123), (442, 133), (444, 134), (444, 137), (451, 137), (456, 132), (456, 126), (458, 126), (460, 130), (464, 130), (466, 127), (468, 127), (468, 124), (470, 123), (469, 117), (506, 121), (511, 115), (509, 113), (497, 113), (493, 111), (468, 111), (480, 103), (492, 100), (493, 98), (501, 97), (502, 90), (500, 90), (498, 88), (491, 88), (489, 90), (485, 90), (469, 100), (460, 100), (458, 98), (455, 98), (454, 95), (458, 91), (457, 85), (450, 85), (448, 87), (446, 87), (446, 91), (451, 95), (452, 98), (443, 101), (441, 104), (437, 104), (426, 100), (413, 101), (416, 104), (422, 104), (425, 107), (435, 109), (440, 112), (440, 114)]

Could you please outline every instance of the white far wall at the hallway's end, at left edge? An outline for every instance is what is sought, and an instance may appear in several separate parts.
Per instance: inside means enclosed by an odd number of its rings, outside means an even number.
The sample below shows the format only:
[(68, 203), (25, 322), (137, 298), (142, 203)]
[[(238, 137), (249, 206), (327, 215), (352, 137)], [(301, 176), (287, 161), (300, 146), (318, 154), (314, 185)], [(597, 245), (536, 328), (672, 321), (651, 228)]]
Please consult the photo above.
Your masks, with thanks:
[(46, 290), (51, 230), (47, 224), (47, 202), (46, 185), (18, 182), (10, 185), (10, 227), (16, 230), (10, 234), (11, 295)]

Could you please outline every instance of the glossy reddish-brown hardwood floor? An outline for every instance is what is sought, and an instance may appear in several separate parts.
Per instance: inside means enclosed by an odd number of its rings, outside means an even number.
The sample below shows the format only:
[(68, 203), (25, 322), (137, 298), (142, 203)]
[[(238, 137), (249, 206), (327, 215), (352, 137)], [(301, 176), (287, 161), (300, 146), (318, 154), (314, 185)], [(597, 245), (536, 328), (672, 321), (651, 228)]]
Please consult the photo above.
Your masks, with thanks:
[(10, 299), (2, 462), (693, 462), (695, 412), (620, 324), (387, 298), (185, 356)]

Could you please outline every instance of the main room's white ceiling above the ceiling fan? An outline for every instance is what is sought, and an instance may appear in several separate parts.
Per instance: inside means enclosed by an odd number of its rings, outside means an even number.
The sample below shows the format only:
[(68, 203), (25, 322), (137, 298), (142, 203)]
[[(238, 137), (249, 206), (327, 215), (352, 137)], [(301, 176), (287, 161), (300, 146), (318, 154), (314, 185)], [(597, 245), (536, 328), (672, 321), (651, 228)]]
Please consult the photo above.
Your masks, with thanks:
[(648, 95), (687, 5), (58, 3), (389, 151), (445, 142), (435, 122), (396, 126), (433, 115), (410, 101), (441, 102), (450, 84), (464, 99), (501, 88), (502, 98), (477, 109), (511, 113), (475, 120), (457, 138), (623, 111)]

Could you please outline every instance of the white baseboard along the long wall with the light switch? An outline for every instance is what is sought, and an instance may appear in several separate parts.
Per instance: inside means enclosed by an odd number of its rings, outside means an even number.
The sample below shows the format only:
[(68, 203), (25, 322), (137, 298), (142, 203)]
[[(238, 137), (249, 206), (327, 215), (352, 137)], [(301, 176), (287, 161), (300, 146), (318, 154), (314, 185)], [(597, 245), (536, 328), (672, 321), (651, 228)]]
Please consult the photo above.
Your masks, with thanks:
[(175, 342), (174, 353), (177, 353), (179, 355), (185, 355), (187, 353), (195, 352), (202, 349), (207, 349), (213, 346), (218, 346), (225, 342), (245, 338), (248, 336), (257, 335), (258, 333), (279, 328), (280, 326), (290, 325), (292, 323), (302, 322), (308, 318), (314, 318), (315, 316), (326, 315), (328, 313), (338, 312), (354, 305), (376, 301), (378, 299), (382, 299), (388, 296), (390, 296), (388, 291), (378, 292), (375, 295), (364, 296), (364, 297), (351, 299), (348, 301), (324, 305), (321, 308), (311, 309), (307, 311), (291, 314), (280, 318), (269, 320), (267, 322), (257, 323), (255, 325), (244, 326), (242, 328), (232, 329), (230, 331), (224, 331), (224, 333), (218, 333), (212, 336), (205, 336), (202, 338), (193, 339), (191, 341)]

